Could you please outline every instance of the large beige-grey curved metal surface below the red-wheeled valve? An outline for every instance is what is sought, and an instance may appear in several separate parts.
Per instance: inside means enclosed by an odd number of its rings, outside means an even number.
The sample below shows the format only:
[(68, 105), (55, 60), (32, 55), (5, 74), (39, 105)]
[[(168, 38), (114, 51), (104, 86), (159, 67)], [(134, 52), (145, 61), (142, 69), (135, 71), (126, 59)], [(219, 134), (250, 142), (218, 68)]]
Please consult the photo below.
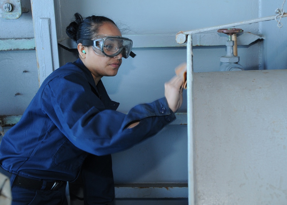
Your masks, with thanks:
[(201, 204), (286, 204), (287, 70), (194, 73)]

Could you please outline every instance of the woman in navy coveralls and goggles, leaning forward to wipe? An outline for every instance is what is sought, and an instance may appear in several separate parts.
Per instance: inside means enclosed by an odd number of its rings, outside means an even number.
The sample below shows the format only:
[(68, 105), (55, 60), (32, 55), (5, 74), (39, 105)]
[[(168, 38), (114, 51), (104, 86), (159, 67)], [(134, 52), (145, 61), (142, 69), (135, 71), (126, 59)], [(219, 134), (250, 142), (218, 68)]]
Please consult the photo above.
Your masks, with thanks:
[[(164, 97), (117, 112), (102, 76), (115, 76), (132, 41), (115, 23), (78, 13), (66, 32), (79, 59), (49, 75), (21, 120), (1, 142), (0, 171), (10, 178), (13, 205), (67, 204), (65, 185), (81, 175), (85, 204), (114, 199), (112, 153), (134, 146), (175, 119), (183, 79), (165, 83)], [(85, 41), (86, 40), (86, 41)]]

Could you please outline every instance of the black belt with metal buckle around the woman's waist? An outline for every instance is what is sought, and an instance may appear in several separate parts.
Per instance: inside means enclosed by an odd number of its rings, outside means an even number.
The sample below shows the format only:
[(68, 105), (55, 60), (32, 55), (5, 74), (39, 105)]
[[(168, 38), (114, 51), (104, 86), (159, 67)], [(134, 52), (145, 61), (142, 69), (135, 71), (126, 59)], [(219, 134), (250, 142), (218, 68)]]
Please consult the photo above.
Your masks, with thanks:
[[(1, 166), (0, 166), (0, 173), (9, 177), (9, 179), (12, 176), (11, 172), (6, 171)], [(26, 178), (26, 177), (22, 177), (22, 176), (17, 175), (15, 177), (15, 180), (13, 181), (13, 184), (21, 186), (21, 187), (30, 188), (30, 189), (41, 189), (43, 186), (43, 180), (30, 179), (30, 178)], [(47, 182), (45, 190), (57, 190), (60, 187), (62, 187), (63, 184), (66, 184), (66, 181)]]

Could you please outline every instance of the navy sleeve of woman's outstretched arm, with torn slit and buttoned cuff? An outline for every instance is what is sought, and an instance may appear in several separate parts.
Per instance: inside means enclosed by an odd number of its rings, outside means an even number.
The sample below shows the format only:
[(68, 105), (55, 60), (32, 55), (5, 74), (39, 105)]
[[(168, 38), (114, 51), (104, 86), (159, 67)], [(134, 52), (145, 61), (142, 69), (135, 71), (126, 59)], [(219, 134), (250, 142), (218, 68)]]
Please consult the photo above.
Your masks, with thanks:
[[(47, 84), (42, 110), (76, 147), (98, 156), (130, 148), (175, 119), (166, 98), (137, 105), (128, 114), (106, 110), (87, 80), (76, 74)], [(139, 124), (126, 129), (135, 120)]]

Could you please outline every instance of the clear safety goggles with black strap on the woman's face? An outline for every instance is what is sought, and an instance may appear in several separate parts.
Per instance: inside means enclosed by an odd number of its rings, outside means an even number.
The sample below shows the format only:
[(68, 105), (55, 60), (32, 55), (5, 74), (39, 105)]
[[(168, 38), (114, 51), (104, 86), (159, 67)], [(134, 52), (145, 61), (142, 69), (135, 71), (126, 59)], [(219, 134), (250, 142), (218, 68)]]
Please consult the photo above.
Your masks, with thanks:
[(133, 47), (133, 41), (129, 38), (121, 36), (96, 36), (96, 40), (84, 40), (79, 39), (77, 43), (82, 43), (83, 46), (93, 46), (96, 53), (100, 50), (103, 55), (108, 57), (114, 57), (122, 53), (124, 58), (129, 56), (135, 57), (135, 54), (131, 51)]

